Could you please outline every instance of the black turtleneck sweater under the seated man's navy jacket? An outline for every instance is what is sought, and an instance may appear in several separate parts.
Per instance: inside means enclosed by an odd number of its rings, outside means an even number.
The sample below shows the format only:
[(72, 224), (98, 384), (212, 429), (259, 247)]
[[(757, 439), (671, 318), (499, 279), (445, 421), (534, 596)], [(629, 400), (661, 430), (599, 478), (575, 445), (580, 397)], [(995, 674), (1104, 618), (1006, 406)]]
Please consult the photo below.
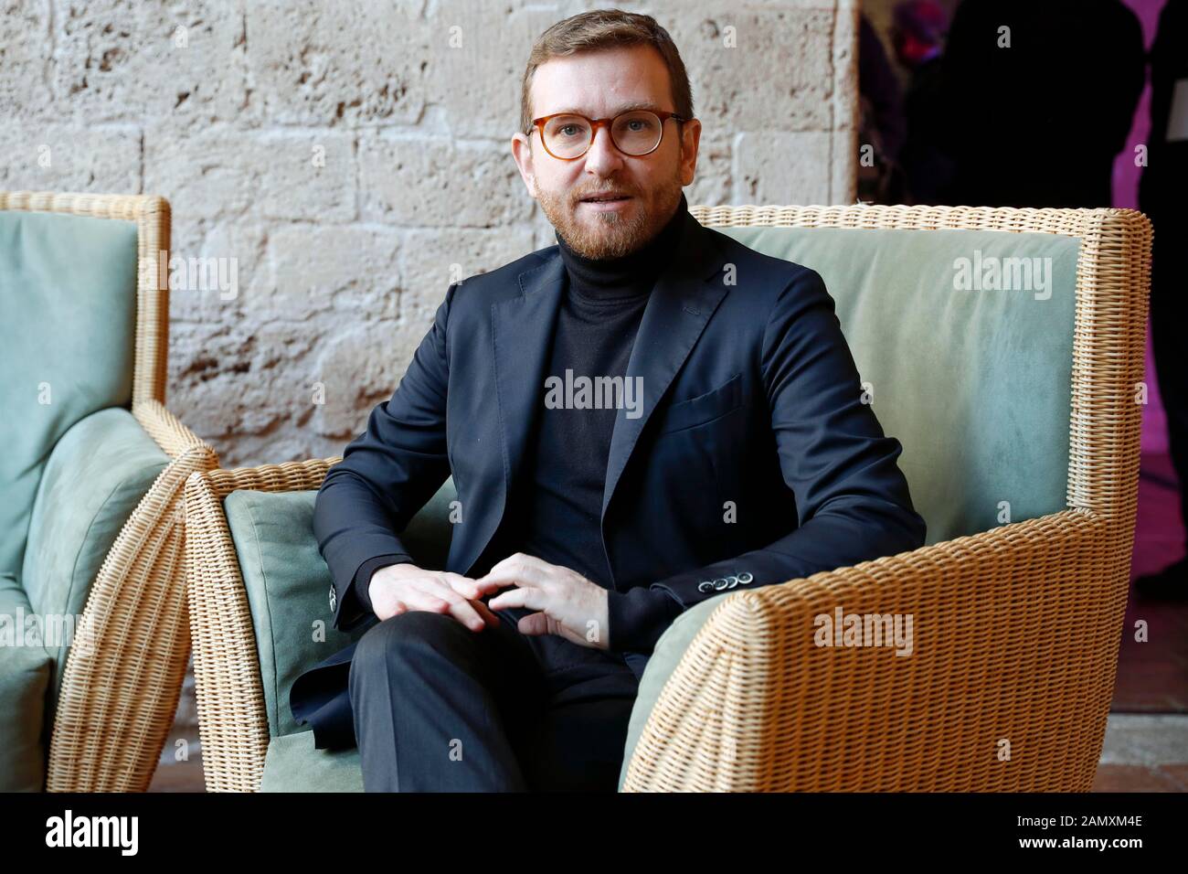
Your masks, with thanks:
[[(590, 259), (574, 252), (556, 234), (565, 265), (565, 293), (557, 312), (545, 377), (623, 377), (644, 307), (656, 278), (669, 265), (680, 241), (688, 202), (684, 194), (668, 224), (643, 249), (623, 258)], [(634, 388), (634, 386), (632, 386)], [(532, 434), (524, 454), (519, 486), (510, 497), (495, 539), (479, 561), (491, 564), (514, 552), (569, 567), (607, 589), (608, 647), (612, 652), (651, 653), (657, 639), (682, 611), (659, 589), (615, 591), (602, 547), (602, 490), (617, 409), (550, 408), (542, 384)], [(631, 395), (632, 403), (642, 403)], [(404, 560), (381, 555), (360, 566), (350, 589), (371, 612), (362, 580)]]

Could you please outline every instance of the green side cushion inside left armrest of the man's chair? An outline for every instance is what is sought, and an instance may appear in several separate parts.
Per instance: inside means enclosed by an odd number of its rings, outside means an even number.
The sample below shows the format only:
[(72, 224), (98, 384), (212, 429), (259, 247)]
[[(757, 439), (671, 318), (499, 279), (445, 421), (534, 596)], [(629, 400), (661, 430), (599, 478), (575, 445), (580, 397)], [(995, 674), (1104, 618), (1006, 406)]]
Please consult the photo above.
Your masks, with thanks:
[[(309, 731), (297, 724), (287, 706), (293, 680), (366, 631), (361, 628), (340, 631), (333, 625), (327, 597), (330, 570), (314, 536), (316, 496), (314, 490), (240, 490), (230, 492), (223, 502), (252, 611), (272, 737)], [(450, 479), (402, 535), (423, 567), (444, 566), (450, 536), (449, 502), (454, 498)]]

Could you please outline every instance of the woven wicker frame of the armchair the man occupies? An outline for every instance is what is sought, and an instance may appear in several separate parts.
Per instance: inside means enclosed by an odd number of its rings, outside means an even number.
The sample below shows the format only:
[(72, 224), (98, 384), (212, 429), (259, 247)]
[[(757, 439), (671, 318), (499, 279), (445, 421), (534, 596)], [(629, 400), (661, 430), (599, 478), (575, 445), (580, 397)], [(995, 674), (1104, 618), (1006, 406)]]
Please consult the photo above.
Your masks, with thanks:
[[(1081, 239), (1068, 509), (722, 598), (669, 678), (624, 791), (1088, 791), (1113, 694), (1139, 465), (1151, 226), (1124, 209), (704, 207), (706, 226)], [(187, 483), (207, 787), (257, 791), (267, 721), (222, 498), (315, 489), (337, 459)], [(814, 617), (911, 614), (916, 648), (814, 645)]]

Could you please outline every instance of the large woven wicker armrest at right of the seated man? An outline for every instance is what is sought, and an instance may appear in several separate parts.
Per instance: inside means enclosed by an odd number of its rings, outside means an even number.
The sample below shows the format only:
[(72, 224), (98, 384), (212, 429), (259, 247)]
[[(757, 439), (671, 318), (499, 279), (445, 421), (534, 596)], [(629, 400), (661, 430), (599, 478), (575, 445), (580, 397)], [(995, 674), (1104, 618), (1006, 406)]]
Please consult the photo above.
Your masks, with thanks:
[[(722, 598), (624, 791), (1088, 791), (1126, 605), (1113, 540), (1064, 510)], [(912, 616), (910, 654), (819, 646), (838, 608)]]

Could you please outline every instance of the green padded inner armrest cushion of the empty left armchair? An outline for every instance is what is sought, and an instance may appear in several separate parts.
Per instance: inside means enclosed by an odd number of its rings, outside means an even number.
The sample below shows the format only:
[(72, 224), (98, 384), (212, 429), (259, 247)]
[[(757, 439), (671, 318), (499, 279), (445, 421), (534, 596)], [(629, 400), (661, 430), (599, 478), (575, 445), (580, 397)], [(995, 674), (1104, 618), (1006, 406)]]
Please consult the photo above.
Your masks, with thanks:
[[(48, 628), (82, 630), (78, 617), (103, 559), (169, 457), (131, 413), (109, 407), (84, 416), (50, 452), (30, 517), (20, 583)], [(55, 634), (48, 712), (74, 639)], [(77, 643), (86, 645), (86, 635)]]

